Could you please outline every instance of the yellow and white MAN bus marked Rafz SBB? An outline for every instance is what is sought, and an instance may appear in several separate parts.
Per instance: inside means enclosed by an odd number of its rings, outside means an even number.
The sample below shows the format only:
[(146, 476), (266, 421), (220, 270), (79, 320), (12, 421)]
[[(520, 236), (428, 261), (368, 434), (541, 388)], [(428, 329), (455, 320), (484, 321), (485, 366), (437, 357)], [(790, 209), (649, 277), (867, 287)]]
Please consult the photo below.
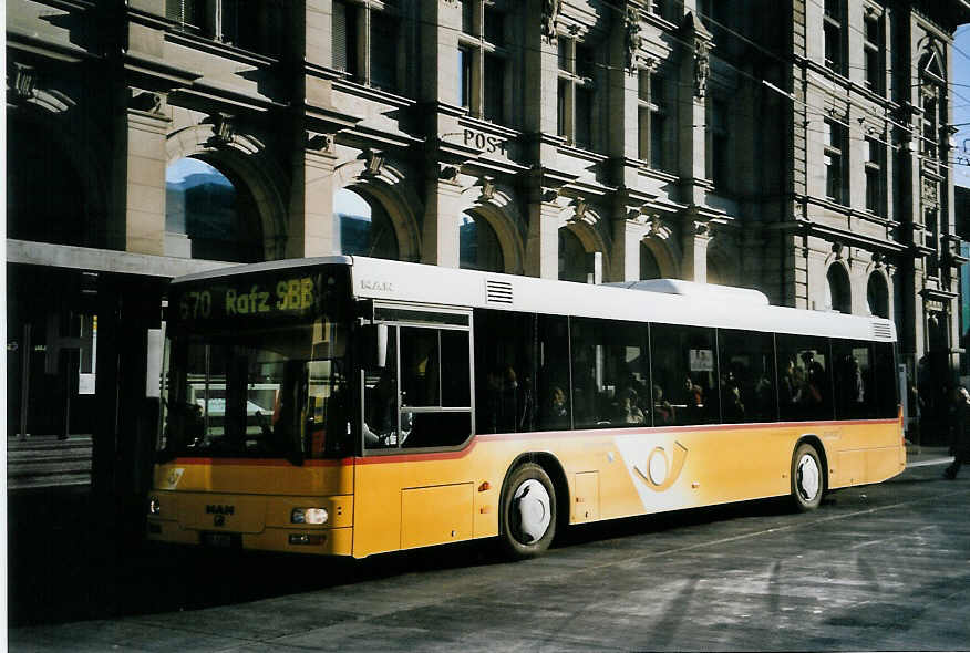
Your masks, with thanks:
[(894, 324), (677, 280), (362, 257), (173, 281), (147, 537), (353, 556), (906, 466)]

